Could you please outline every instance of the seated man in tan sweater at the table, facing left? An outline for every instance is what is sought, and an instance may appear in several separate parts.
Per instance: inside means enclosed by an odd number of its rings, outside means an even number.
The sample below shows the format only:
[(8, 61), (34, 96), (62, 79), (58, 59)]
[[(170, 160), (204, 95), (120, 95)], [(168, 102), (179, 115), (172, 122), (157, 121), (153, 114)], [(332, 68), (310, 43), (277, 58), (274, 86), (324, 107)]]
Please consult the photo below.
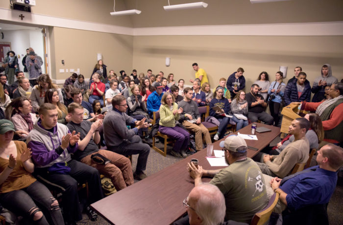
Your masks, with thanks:
[(307, 119), (296, 118), (289, 127), (289, 134), (294, 135), (294, 141), (288, 144), (280, 155), (257, 154), (255, 159), (264, 162), (257, 162), (262, 173), (284, 178), (292, 172), (296, 163), (306, 163), (309, 158), (310, 145), (305, 134), (309, 128), (310, 122)]

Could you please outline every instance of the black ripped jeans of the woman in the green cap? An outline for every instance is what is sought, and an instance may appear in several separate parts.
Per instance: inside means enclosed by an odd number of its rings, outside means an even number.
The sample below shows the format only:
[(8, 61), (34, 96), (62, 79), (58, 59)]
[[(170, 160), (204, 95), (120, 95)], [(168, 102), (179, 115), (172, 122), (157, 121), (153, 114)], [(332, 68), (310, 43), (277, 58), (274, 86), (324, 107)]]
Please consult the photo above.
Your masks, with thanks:
[(48, 224), (36, 203), (44, 207), (42, 211), (50, 213), (52, 223), (63, 225), (64, 220), (57, 200), (52, 197), (48, 188), (35, 181), (21, 190), (11, 191), (0, 195), (0, 203), (3, 207), (15, 213), (17, 216), (31, 218), (34, 224)]

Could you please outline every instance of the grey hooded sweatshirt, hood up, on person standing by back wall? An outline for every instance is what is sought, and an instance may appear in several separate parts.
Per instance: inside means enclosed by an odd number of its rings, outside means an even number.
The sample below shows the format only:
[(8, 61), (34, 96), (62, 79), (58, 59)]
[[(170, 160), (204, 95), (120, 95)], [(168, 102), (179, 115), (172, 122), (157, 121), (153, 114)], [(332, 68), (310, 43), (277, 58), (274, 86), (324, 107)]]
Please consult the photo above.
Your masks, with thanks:
[(325, 99), (325, 86), (318, 86), (320, 80), (326, 81), (326, 86), (331, 86), (333, 83), (338, 81), (336, 77), (332, 76), (331, 65), (324, 64), (323, 66), (327, 66), (329, 68), (329, 72), (325, 77), (320, 69), (321, 75), (315, 79), (311, 89), (311, 92), (315, 94), (312, 98), (312, 102), (320, 102), (321, 100)]

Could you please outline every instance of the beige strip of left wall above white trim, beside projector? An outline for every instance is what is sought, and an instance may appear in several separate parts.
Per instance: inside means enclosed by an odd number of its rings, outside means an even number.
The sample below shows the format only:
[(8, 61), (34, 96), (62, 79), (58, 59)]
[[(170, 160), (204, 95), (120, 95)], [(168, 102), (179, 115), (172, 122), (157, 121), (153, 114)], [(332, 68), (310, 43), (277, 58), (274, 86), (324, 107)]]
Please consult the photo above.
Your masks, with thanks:
[[(126, 10), (125, 0), (116, 0), (116, 11)], [(9, 0), (0, 0), (0, 8), (10, 8)], [(113, 0), (36, 0), (32, 13), (81, 21), (132, 27), (129, 16), (113, 17)]]

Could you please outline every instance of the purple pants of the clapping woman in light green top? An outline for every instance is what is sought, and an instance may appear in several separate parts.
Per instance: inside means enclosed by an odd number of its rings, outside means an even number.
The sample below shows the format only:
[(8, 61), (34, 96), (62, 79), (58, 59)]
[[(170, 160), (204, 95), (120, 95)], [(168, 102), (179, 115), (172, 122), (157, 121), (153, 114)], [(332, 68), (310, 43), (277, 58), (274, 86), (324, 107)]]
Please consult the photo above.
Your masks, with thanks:
[(182, 129), (179, 126), (175, 127), (159, 127), (159, 132), (162, 134), (168, 135), (175, 139), (175, 144), (173, 150), (175, 152), (180, 152), (181, 150), (186, 150), (189, 144), (189, 133), (188, 131)]

